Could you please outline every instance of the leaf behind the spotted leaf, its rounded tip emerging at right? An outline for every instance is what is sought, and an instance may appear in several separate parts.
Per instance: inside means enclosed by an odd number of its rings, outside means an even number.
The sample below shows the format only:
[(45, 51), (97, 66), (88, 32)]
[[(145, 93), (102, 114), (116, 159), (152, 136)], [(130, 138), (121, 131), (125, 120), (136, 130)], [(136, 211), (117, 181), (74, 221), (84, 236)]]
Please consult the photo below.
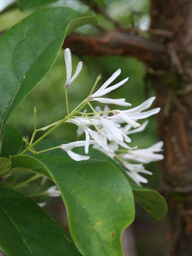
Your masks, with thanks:
[[(55, 146), (59, 146), (63, 144), (64, 141), (62, 140), (49, 140), (45, 139), (42, 140), (41, 143), (37, 144), (35, 149), (38, 150), (43, 150)], [(84, 148), (76, 148), (74, 149), (76, 153), (83, 154)], [(56, 156), (62, 156), (66, 155), (66, 152), (56, 149), (56, 150), (51, 150), (47, 151), (46, 154), (49, 155), (56, 155)], [(157, 220), (162, 219), (166, 213), (167, 213), (167, 204), (165, 202), (164, 197), (162, 197), (157, 191), (146, 188), (146, 187), (140, 187), (138, 186), (126, 173), (126, 171), (119, 165), (117, 164), (113, 159), (110, 157), (106, 156), (102, 152), (90, 148), (89, 149), (89, 156), (92, 159), (100, 159), (100, 160), (107, 160), (108, 162), (111, 162), (114, 166), (116, 166), (123, 175), (128, 179), (135, 200), (147, 211), (147, 213), (151, 216), (154, 217)]]

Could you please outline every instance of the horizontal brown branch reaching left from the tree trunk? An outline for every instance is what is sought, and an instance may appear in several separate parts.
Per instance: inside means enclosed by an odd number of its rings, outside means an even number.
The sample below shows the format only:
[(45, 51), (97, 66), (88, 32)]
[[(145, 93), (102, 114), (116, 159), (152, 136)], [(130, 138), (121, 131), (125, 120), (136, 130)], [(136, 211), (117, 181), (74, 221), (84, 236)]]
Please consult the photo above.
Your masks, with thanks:
[(153, 69), (166, 69), (169, 64), (168, 52), (164, 45), (121, 29), (94, 36), (72, 33), (66, 37), (63, 44), (63, 48), (68, 47), (72, 53), (79, 56), (133, 56)]

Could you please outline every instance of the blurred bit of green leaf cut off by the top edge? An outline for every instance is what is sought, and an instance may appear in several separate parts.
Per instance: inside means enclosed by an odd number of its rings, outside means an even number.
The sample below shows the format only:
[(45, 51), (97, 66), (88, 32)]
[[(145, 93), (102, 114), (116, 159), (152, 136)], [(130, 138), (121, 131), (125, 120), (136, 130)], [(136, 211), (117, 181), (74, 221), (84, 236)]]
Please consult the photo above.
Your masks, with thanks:
[(58, 0), (18, 0), (18, 7), (25, 11), (34, 7), (40, 7), (46, 4), (54, 3)]

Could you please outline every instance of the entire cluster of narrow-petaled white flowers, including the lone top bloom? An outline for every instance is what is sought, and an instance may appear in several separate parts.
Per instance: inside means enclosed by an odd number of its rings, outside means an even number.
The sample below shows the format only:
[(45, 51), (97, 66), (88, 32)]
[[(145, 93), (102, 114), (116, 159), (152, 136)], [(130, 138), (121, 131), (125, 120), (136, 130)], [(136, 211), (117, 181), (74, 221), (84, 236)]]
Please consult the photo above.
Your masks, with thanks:
[[(80, 73), (82, 62), (79, 62), (75, 74), (71, 78), (72, 60), (70, 50), (65, 49), (64, 55), (66, 63), (65, 88), (69, 88), (70, 84)], [(98, 101), (124, 107), (131, 106), (130, 103), (125, 101), (126, 99), (110, 99), (103, 97), (105, 94), (117, 89), (128, 81), (128, 78), (126, 78), (121, 82), (110, 86), (120, 73), (121, 70), (118, 69), (106, 82), (103, 83), (99, 90), (93, 93), (94, 86), (87, 99), (82, 102), (82, 106), (80, 105), (79, 112), (76, 111), (74, 116), (70, 116), (68, 122), (78, 126), (78, 137), (85, 134), (85, 139), (69, 144), (63, 144), (60, 148), (66, 151), (72, 159), (80, 161), (89, 159), (89, 156), (76, 154), (72, 149), (74, 147), (84, 147), (85, 154), (88, 154), (89, 146), (93, 145), (94, 148), (120, 162), (122, 166), (126, 168), (128, 175), (140, 185), (140, 183), (147, 183), (148, 181), (139, 173), (151, 174), (151, 172), (146, 170), (142, 164), (163, 159), (161, 154), (157, 154), (159, 151), (162, 151), (163, 144), (162, 141), (160, 141), (147, 149), (137, 149), (137, 146), (130, 147), (128, 143), (131, 142), (131, 134), (144, 130), (148, 124), (148, 121), (145, 121), (140, 125), (138, 120), (148, 118), (159, 112), (160, 108), (146, 111), (152, 105), (155, 97), (146, 100), (135, 108), (126, 110), (110, 110), (107, 105), (105, 105), (102, 110), (100, 107), (93, 108), (91, 105), (92, 101)], [(95, 83), (95, 85), (96, 84), (97, 83)], [(85, 105), (88, 105), (92, 112), (88, 113), (87, 110), (81, 112), (80, 110)], [(74, 111), (72, 111), (72, 113), (73, 112)], [(132, 161), (140, 162), (141, 164), (133, 164)]]

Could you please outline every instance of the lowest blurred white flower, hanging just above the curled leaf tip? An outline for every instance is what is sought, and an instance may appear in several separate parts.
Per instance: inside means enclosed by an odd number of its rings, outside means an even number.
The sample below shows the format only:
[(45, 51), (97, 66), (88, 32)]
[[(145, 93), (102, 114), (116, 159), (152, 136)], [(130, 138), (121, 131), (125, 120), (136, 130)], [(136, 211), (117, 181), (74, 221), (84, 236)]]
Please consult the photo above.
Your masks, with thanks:
[(151, 172), (145, 169), (142, 164), (129, 164), (127, 162), (123, 163), (124, 167), (126, 167), (127, 174), (135, 181), (138, 185), (141, 185), (140, 183), (148, 183), (148, 180), (144, 177), (142, 177), (139, 173), (145, 173), (152, 175)]

